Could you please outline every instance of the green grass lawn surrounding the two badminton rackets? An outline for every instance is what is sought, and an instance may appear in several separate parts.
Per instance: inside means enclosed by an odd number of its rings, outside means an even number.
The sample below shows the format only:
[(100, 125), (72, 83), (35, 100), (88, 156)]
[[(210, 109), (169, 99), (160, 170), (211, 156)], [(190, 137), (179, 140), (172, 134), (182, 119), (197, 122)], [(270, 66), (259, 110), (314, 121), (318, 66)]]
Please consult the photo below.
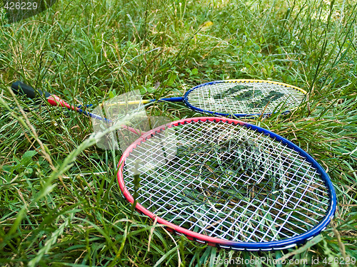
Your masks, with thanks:
[[(215, 257), (357, 258), (352, 2), (64, 0), (14, 24), (0, 19), (0, 264), (213, 266)], [(228, 78), (278, 80), (309, 92), (307, 103), (289, 115), (249, 120), (301, 146), (333, 181), (336, 217), (301, 248), (224, 251), (171, 236), (131, 212), (116, 182), (119, 151), (94, 145), (90, 120), (23, 97), (16, 103), (7, 89), (24, 80), (69, 103), (98, 105), (130, 90), (158, 98)], [(167, 103), (148, 112), (171, 120), (198, 116)]]

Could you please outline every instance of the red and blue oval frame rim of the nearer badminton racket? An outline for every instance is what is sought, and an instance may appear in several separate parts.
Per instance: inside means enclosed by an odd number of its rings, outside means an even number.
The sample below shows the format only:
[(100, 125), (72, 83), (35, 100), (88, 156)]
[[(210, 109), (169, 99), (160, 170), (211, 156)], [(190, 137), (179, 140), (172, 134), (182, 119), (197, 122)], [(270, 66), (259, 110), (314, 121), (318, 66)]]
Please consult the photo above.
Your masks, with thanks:
[(150, 137), (154, 136), (156, 132), (161, 132), (162, 130), (165, 130), (168, 127), (175, 127), (177, 125), (183, 125), (186, 123), (193, 123), (193, 122), (227, 122), (230, 124), (234, 125), (241, 125), (243, 127), (251, 128), (251, 130), (255, 130), (257, 132), (263, 132), (264, 135), (270, 135), (271, 138), (278, 140), (279, 142), (282, 142), (283, 145), (287, 145), (291, 149), (295, 150), (296, 152), (299, 152), (299, 154), (302, 157), (305, 157), (308, 162), (311, 163), (313, 167), (315, 167), (319, 174), (321, 174), (321, 179), (323, 179), (323, 182), (325, 182), (325, 185), (328, 189), (328, 195), (330, 198), (330, 206), (328, 207), (328, 210), (326, 211), (326, 215), (323, 217), (323, 219), (320, 221), (319, 224), (314, 226), (312, 229), (309, 231), (306, 231), (304, 234), (300, 234), (298, 236), (294, 236), (290, 239), (283, 239), (281, 241), (270, 241), (270, 242), (256, 242), (256, 243), (249, 243), (249, 242), (238, 242), (238, 241), (228, 241), (224, 239), (218, 239), (216, 237), (211, 237), (211, 236), (206, 236), (203, 234), (198, 234), (194, 231), (190, 231), (188, 229), (184, 229), (181, 226), (176, 226), (176, 224), (172, 224), (169, 221), (166, 221), (165, 219), (162, 219), (159, 216), (156, 216), (154, 213), (151, 211), (147, 210), (144, 206), (142, 206), (139, 202), (136, 203), (136, 210), (139, 211), (141, 214), (145, 214), (146, 216), (149, 216), (153, 221), (157, 220), (159, 224), (163, 224), (166, 226), (166, 228), (169, 231), (172, 231), (178, 235), (184, 234), (188, 239), (198, 241), (199, 243), (203, 244), (208, 244), (210, 246), (218, 246), (220, 248), (230, 248), (233, 250), (248, 250), (248, 251), (271, 251), (271, 250), (283, 250), (286, 248), (291, 248), (294, 246), (297, 246), (299, 244), (303, 244), (305, 241), (312, 239), (314, 236), (317, 236), (320, 234), (321, 231), (326, 229), (326, 226), (329, 224), (329, 222), (333, 219), (333, 215), (336, 211), (336, 193), (335, 190), (333, 189), (333, 184), (331, 182), (331, 179), (328, 177), (328, 174), (323, 170), (320, 164), (316, 162), (311, 155), (308, 155), (307, 152), (302, 150), (300, 147), (297, 145), (294, 145), (292, 142), (286, 140), (285, 138), (281, 137), (280, 135), (276, 135), (275, 133), (263, 129), (261, 127), (258, 127), (256, 125), (251, 125), (246, 122), (238, 121), (238, 120), (233, 120), (231, 118), (225, 118), (225, 117), (194, 117), (194, 118), (187, 118), (183, 120), (176, 120), (175, 122), (170, 122), (166, 125), (162, 125), (160, 127), (156, 127), (153, 130), (150, 130), (149, 132), (144, 133), (144, 135), (141, 135), (135, 142), (133, 142), (123, 153), (121, 156), (121, 159), (119, 160), (118, 164), (118, 173), (117, 173), (117, 179), (119, 182), (119, 187), (121, 189), (121, 192), (124, 194), (124, 197), (126, 198), (127, 201), (129, 201), (131, 204), (134, 204), (134, 197), (129, 193), (129, 190), (126, 188), (125, 182), (124, 182), (124, 176), (123, 176), (123, 171), (124, 171), (124, 165), (126, 158), (129, 157), (130, 153), (138, 146), (141, 144), (141, 142), (145, 142), (146, 139), (149, 139)]

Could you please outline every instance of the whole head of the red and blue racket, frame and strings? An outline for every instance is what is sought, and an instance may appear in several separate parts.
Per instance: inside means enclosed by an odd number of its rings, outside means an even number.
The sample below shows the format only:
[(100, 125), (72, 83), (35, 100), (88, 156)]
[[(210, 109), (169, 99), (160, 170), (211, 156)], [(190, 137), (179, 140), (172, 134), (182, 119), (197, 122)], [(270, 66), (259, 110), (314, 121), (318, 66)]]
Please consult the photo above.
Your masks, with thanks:
[[(176, 155), (169, 159), (155, 151), (163, 148), (169, 151), (165, 147), (165, 138), (159, 136), (159, 142), (154, 140), (167, 129), (171, 134), (176, 131), (174, 138), (167, 142), (176, 145), (173, 150)], [(226, 137), (228, 140), (224, 140)], [(231, 150), (224, 148), (227, 142), (233, 144)], [(182, 144), (187, 146), (182, 147)], [(211, 159), (213, 157), (204, 156), (217, 144), (221, 166), (217, 166), (219, 164), (216, 159)], [(247, 144), (248, 150), (244, 148)], [(263, 150), (260, 155), (258, 150)], [(180, 153), (187, 151), (194, 154), (194, 158), (191, 162), (188, 159), (180, 161), (184, 157)], [(144, 164), (140, 164), (144, 158)], [(262, 165), (263, 162), (266, 164)], [(243, 170), (239, 170), (242, 167)], [(221, 174), (217, 173), (218, 168), (221, 168)], [(272, 173), (270, 177), (268, 171)], [(264, 177), (261, 175), (264, 172), (266, 178), (257, 181)], [(134, 203), (133, 174), (141, 177), (137, 211), (176, 234), (221, 248), (268, 251), (302, 244), (326, 228), (336, 209), (333, 184), (308, 153), (273, 132), (229, 118), (178, 120), (139, 137), (122, 155), (117, 174), (121, 192), (131, 204)], [(235, 189), (229, 188), (229, 183), (233, 183)], [(261, 191), (254, 191), (254, 188)], [(247, 190), (245, 195), (244, 190)], [(213, 203), (217, 196), (218, 200)], [(201, 212), (205, 205), (211, 205), (206, 213)]]

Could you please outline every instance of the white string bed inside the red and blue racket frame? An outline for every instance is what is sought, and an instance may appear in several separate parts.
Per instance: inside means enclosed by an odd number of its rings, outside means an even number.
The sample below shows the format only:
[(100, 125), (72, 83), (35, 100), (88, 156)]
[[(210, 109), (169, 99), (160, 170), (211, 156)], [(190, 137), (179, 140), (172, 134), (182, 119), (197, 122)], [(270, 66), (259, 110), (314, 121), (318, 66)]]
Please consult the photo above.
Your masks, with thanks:
[(221, 239), (268, 242), (304, 233), (326, 215), (320, 174), (281, 142), (227, 122), (171, 130), (174, 136), (162, 131), (141, 142), (124, 165), (134, 194), (139, 163), (137, 200), (166, 221)]

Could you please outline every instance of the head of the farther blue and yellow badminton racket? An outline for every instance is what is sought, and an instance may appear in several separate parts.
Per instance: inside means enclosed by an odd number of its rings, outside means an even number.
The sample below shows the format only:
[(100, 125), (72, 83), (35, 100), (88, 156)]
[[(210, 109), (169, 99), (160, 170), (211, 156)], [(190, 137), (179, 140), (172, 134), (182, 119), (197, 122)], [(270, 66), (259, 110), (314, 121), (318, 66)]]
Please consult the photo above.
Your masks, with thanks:
[(217, 80), (188, 90), (183, 101), (198, 112), (223, 117), (271, 115), (283, 106), (283, 114), (298, 108), (306, 91), (271, 80)]

